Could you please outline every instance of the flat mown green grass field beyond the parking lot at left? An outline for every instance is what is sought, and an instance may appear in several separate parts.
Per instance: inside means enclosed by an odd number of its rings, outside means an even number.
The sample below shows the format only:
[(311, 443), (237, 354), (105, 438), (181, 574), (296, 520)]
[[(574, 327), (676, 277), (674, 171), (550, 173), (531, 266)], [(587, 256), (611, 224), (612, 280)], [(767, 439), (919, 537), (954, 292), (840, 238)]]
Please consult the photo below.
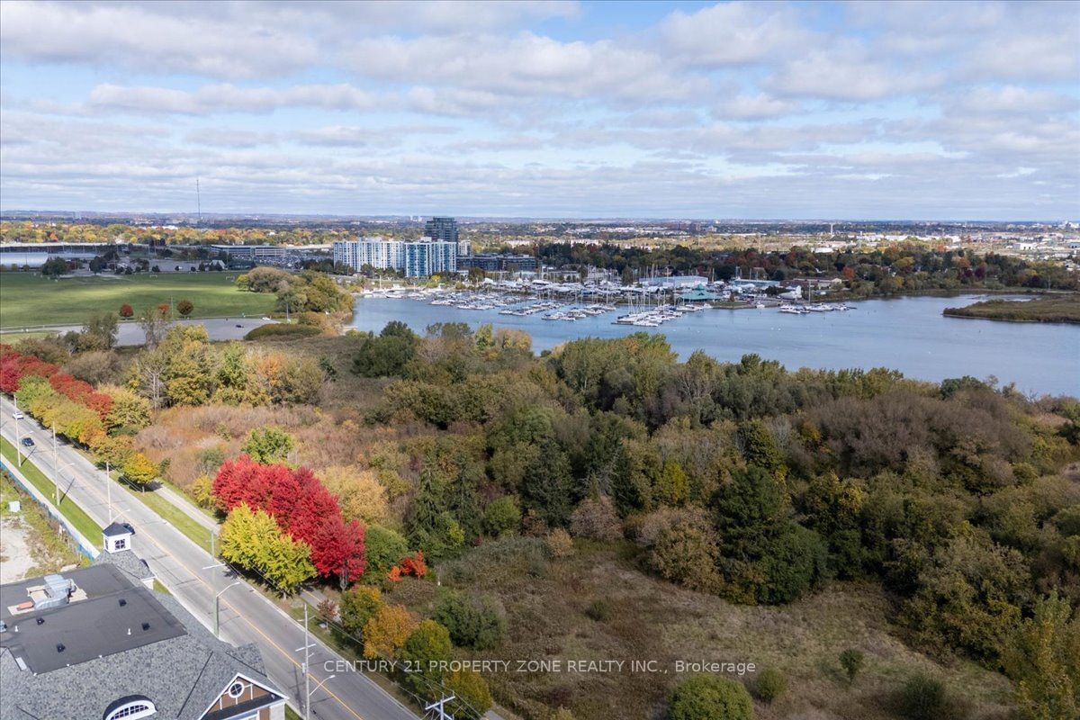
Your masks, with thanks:
[(191, 317), (265, 315), (273, 295), (235, 286), (235, 272), (104, 275), (46, 280), (31, 273), (0, 273), (0, 327), (79, 325), (93, 312), (118, 312), (127, 303), (138, 312), (162, 302), (190, 300)]

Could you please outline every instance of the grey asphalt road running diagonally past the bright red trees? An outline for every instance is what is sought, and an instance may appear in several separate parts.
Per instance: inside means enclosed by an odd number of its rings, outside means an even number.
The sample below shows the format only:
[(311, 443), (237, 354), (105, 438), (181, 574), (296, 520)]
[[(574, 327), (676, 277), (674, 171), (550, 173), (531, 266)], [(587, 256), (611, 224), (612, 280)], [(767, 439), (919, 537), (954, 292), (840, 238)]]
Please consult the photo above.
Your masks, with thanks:
[[(0, 432), (13, 444), (15, 406), (0, 398)], [(31, 437), (30, 459), (54, 478), (52, 433), (29, 416), (18, 421), (21, 437)], [(25, 448), (24, 448), (25, 449)], [(189, 612), (213, 629), (214, 596), (221, 593), (221, 637), (234, 644), (255, 642), (270, 678), (293, 698), (303, 697), (303, 628), (245, 582), (228, 576), (219, 561), (68, 445), (57, 441), (56, 465), (60, 490), (71, 497), (102, 527), (123, 520), (135, 528), (135, 552)], [(111, 512), (110, 512), (111, 498)], [(238, 583), (232, 585), (232, 583)], [(312, 636), (311, 717), (323, 720), (416, 720), (416, 715), (360, 673), (325, 671), (325, 663), (340, 660)], [(334, 677), (330, 677), (330, 676)], [(326, 678), (330, 677), (329, 680)], [(322, 685), (320, 682), (325, 681)], [(316, 689), (318, 688), (318, 689)]]

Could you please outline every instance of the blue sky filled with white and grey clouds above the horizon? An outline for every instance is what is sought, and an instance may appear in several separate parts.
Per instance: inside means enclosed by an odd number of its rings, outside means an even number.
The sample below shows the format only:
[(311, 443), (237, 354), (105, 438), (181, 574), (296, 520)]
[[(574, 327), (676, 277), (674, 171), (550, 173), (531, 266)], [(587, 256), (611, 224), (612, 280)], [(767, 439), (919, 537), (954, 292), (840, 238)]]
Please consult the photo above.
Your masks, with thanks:
[(1080, 3), (0, 3), (0, 210), (1080, 219)]

